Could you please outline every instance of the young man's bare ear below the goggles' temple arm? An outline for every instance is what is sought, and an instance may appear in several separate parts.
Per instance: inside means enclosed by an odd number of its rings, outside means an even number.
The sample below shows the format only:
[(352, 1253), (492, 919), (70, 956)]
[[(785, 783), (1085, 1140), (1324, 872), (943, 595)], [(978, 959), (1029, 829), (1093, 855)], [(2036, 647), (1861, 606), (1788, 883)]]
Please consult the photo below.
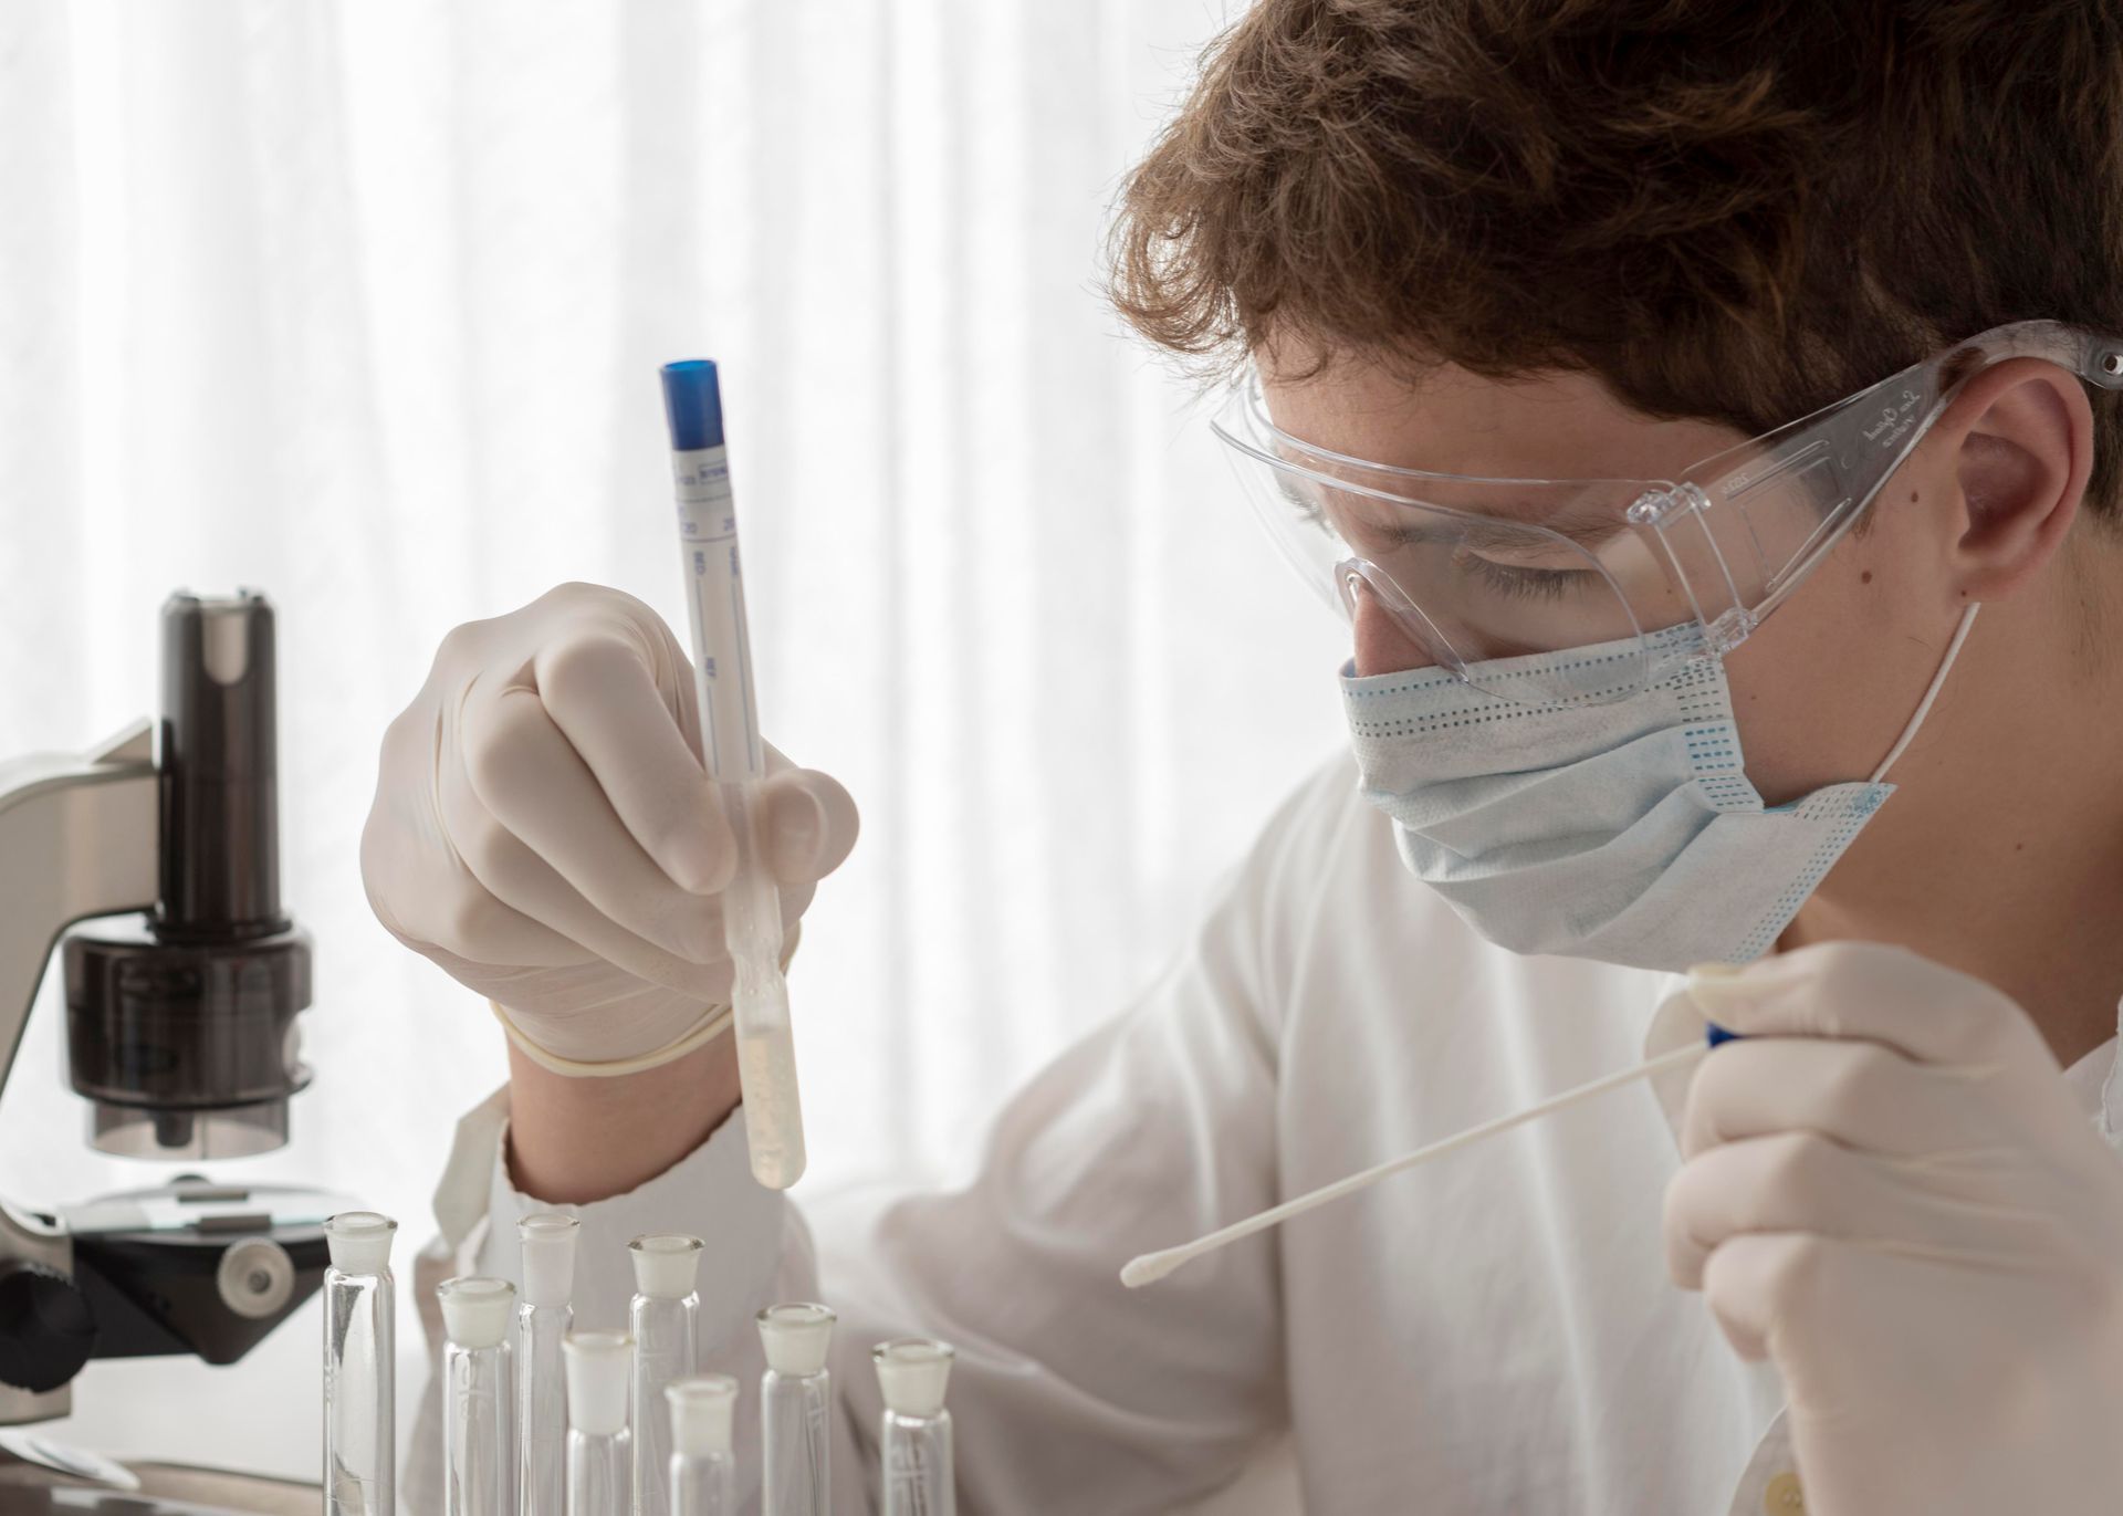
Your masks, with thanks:
[[(1940, 435), (1943, 433), (1943, 435)], [(2008, 359), (1970, 378), (1938, 418), (1960, 501), (1947, 548), (1960, 601), (1996, 601), (2064, 541), (2093, 469), (2093, 408), (2076, 376)]]

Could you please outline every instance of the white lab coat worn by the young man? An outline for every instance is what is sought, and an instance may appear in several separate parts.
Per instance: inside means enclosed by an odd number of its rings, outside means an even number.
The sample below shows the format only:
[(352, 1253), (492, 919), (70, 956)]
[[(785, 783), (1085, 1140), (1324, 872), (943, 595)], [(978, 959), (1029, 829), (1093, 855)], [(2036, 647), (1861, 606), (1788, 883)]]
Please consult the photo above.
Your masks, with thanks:
[[(747, 1384), (754, 1312), (841, 1312), (834, 1510), (873, 1510), (877, 1378), (957, 1346), (960, 1508), (1123, 1516), (1233, 1478), (1289, 1431), (1310, 1516), (1758, 1516), (1792, 1503), (1775, 1374), (1667, 1282), (1675, 1102), (1630, 1087), (1127, 1291), (1183, 1242), (1698, 1034), (1664, 977), (1516, 958), (1401, 866), (1342, 760), (1304, 786), (1123, 1015), (1002, 1113), (970, 1187), (819, 1227), (747, 1174), (743, 1123), (582, 1217), (580, 1323), (618, 1325), (626, 1238), (696, 1231), (709, 1363)], [(2095, 1074), (2112, 1045), (2074, 1070)], [(446, 1272), (518, 1278), (505, 1098), (437, 1191)], [(429, 1308), (429, 1314), (433, 1310)], [(408, 1508), (439, 1512), (433, 1386)], [(756, 1457), (743, 1461), (756, 1482)]]

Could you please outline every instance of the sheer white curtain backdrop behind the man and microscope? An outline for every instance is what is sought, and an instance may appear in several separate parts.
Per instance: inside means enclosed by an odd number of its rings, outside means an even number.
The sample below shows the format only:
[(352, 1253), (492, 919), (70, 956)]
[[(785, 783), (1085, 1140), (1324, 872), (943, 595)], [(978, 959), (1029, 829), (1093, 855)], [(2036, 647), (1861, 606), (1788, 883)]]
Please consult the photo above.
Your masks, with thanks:
[[(280, 616), (316, 1083), (287, 1151), (221, 1172), (427, 1236), (503, 1057), (367, 911), (376, 745), (456, 622), (560, 580), (681, 618), (673, 357), (724, 365), (769, 735), (864, 809), (792, 972), (798, 1193), (962, 1172), (1174, 949), (1342, 741), (1342, 637), (1095, 289), (1236, 8), (0, 8), (0, 754), (151, 713), (172, 588)], [(159, 1183), (83, 1144), (53, 981), (0, 1193)], [(231, 1369), (91, 1365), (59, 1435), (312, 1474), (316, 1336), (312, 1306)]]

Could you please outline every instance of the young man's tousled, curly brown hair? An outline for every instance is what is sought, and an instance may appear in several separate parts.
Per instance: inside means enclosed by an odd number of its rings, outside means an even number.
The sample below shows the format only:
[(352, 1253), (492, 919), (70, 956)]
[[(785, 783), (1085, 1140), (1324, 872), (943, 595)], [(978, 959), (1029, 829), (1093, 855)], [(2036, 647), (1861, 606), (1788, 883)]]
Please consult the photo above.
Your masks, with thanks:
[(1749, 435), (2006, 321), (2123, 333), (2123, 0), (1261, 0), (1108, 291), (1204, 374), (1299, 338)]

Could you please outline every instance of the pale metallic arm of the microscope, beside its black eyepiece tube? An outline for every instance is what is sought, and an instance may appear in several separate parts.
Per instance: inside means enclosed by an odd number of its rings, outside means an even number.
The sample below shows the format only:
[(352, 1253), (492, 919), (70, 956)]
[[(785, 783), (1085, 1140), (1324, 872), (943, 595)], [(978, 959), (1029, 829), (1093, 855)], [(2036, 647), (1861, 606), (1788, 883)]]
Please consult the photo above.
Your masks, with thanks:
[(59, 932), (155, 905), (155, 803), (146, 720), (87, 754), (0, 762), (0, 1087)]

